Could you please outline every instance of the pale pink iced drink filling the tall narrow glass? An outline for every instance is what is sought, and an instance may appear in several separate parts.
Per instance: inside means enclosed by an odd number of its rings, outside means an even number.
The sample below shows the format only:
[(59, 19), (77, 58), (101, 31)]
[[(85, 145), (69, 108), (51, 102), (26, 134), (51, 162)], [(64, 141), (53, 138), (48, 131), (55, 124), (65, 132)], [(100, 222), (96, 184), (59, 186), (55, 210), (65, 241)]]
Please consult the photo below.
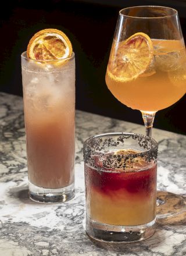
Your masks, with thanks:
[(52, 74), (53, 84), (46, 74), (29, 76), (23, 70), (28, 179), (47, 189), (67, 187), (74, 182), (74, 73)]

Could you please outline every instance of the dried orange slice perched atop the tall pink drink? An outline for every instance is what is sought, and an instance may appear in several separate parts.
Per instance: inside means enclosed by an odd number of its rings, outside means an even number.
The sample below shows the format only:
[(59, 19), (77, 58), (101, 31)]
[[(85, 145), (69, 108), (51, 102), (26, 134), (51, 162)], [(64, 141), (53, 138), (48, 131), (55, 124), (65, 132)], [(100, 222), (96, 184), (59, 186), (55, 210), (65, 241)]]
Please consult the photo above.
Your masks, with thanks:
[(70, 57), (71, 42), (62, 31), (44, 29), (31, 38), (27, 47), (27, 56), (38, 61), (58, 60)]

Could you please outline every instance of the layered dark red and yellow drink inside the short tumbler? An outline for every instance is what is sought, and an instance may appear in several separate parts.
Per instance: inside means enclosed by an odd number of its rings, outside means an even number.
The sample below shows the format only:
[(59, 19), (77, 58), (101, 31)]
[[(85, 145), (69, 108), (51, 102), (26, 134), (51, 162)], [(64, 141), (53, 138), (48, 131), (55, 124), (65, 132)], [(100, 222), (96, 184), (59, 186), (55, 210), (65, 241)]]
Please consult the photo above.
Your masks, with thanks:
[[(85, 163), (87, 214), (110, 225), (142, 225), (156, 216), (156, 163), (136, 162), (133, 168), (110, 170)], [(101, 168), (100, 168), (101, 167)]]

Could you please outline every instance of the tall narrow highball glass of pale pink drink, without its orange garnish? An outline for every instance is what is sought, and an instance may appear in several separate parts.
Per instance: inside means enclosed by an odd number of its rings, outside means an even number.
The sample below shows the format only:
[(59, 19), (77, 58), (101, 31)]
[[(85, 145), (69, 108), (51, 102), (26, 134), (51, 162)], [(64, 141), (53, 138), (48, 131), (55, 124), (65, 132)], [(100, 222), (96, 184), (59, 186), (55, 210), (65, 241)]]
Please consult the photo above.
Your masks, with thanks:
[(22, 54), (29, 195), (74, 197), (75, 58), (35, 61)]

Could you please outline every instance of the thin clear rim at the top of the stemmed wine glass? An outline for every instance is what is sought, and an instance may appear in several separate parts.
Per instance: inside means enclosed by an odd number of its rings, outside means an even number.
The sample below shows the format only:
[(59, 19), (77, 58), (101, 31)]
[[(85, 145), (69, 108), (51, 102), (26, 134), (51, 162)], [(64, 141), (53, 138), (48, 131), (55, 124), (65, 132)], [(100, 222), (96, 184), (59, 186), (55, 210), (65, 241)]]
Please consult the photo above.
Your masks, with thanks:
[[(166, 16), (159, 16), (159, 17), (137, 17), (137, 16), (130, 16), (130, 15), (125, 15), (123, 14), (123, 10), (127, 10), (127, 9), (133, 9), (133, 8), (144, 8), (144, 7), (158, 7), (158, 8), (162, 8), (162, 9), (170, 9), (173, 10), (173, 14), (171, 15), (166, 15)], [(176, 16), (178, 14), (178, 11), (174, 8), (171, 7), (167, 7), (167, 6), (159, 6), (159, 5), (139, 5), (139, 6), (131, 6), (131, 7), (126, 7), (123, 8), (119, 11), (119, 15), (123, 16), (123, 17), (129, 17), (129, 18), (133, 18), (133, 19), (166, 19), (167, 17), (173, 17)]]

